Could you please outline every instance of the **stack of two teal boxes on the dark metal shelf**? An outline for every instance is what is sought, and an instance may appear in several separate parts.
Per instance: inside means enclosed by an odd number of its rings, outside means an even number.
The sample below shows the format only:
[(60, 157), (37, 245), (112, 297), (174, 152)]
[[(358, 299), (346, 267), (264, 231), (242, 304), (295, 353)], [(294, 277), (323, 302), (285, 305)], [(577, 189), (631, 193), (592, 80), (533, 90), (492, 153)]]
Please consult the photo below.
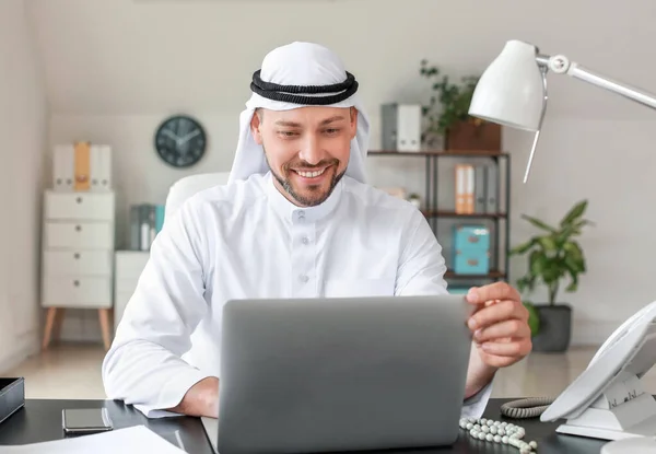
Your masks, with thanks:
[(457, 275), (490, 272), (490, 230), (485, 225), (454, 226), (454, 272)]

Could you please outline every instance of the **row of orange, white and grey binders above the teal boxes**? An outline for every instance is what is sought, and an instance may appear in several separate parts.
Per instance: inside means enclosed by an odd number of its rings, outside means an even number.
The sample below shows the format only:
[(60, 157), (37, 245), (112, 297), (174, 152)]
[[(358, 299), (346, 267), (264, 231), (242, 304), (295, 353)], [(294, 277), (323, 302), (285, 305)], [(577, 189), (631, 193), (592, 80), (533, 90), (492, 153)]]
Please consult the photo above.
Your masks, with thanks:
[(497, 185), (494, 166), (456, 164), (456, 213), (497, 213)]

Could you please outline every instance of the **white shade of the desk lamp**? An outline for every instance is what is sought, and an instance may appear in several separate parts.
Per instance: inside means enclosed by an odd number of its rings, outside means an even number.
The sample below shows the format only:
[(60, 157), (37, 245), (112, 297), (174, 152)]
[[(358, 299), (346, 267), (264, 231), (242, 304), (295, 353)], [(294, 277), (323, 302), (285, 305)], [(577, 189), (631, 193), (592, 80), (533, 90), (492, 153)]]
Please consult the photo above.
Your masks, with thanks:
[(536, 56), (535, 46), (508, 40), (481, 75), (469, 115), (504, 126), (538, 130), (546, 101)]

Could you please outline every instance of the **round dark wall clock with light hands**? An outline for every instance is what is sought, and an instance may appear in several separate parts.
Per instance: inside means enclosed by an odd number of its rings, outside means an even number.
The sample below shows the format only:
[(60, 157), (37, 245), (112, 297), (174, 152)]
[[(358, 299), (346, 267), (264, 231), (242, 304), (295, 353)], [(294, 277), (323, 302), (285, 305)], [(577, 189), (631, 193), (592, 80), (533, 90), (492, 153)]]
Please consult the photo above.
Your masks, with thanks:
[(196, 119), (188, 116), (169, 117), (155, 132), (157, 154), (175, 167), (196, 164), (204, 154), (206, 145), (204, 130)]

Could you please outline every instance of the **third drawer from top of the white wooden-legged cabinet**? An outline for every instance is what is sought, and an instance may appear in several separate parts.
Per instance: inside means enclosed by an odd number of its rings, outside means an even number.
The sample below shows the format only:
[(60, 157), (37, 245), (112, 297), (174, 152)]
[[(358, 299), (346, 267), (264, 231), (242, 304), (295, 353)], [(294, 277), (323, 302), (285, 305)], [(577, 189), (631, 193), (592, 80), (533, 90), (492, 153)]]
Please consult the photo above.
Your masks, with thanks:
[(110, 251), (47, 251), (44, 254), (45, 272), (50, 276), (110, 276)]

